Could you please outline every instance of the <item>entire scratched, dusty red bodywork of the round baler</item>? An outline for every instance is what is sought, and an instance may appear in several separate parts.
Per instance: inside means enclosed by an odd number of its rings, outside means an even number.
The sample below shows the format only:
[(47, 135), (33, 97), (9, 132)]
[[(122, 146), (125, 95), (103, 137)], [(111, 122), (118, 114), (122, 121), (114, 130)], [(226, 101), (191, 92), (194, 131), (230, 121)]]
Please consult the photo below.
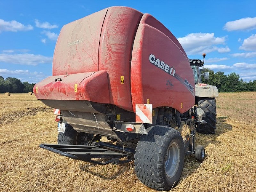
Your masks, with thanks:
[[(134, 112), (135, 104), (150, 99), (153, 108), (170, 106), (187, 111), (194, 96), (150, 63), (150, 54), (174, 66), (194, 87), (186, 53), (159, 21), (128, 7), (101, 10), (63, 26), (54, 51), (53, 76), (36, 84), (34, 93), (37, 99), (89, 100)], [(55, 81), (57, 78), (62, 81)], [(173, 89), (166, 89), (166, 78), (172, 80)]]

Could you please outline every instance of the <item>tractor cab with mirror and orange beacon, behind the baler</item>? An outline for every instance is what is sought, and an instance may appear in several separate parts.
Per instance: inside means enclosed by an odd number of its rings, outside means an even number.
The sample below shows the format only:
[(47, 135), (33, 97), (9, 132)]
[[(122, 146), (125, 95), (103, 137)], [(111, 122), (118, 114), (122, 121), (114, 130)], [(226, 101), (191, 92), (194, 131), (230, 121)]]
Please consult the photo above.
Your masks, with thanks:
[[(205, 57), (205, 53), (203, 53), (203, 58)], [(204, 76), (205, 80), (209, 79), (209, 72), (204, 72), (203, 74), (201, 74), (201, 71), (204, 71), (204, 69), (200, 69), (199, 67), (203, 67), (204, 66), (204, 60), (203, 62), (200, 59), (189, 59), (190, 62), (190, 66), (193, 70), (193, 74), (194, 74), (194, 80), (195, 80), (195, 84), (198, 83), (202, 83), (202, 79), (201, 79), (201, 75)]]

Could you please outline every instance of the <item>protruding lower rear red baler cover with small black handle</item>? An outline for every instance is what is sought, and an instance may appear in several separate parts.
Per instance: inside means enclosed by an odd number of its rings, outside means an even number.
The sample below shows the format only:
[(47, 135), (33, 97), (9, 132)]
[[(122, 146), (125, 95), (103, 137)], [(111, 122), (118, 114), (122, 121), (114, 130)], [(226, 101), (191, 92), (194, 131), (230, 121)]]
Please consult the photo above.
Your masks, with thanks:
[(110, 102), (106, 71), (50, 76), (36, 84), (34, 94), (41, 100)]

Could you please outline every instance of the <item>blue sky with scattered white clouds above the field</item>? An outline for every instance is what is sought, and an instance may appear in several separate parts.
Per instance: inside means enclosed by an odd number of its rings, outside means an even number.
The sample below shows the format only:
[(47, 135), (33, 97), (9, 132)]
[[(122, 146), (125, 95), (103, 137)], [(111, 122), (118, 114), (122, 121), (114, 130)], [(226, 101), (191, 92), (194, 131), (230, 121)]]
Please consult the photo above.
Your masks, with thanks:
[(3, 1), (0, 76), (36, 83), (52, 75), (63, 25), (110, 6), (153, 15), (205, 67), (256, 79), (256, 1)]

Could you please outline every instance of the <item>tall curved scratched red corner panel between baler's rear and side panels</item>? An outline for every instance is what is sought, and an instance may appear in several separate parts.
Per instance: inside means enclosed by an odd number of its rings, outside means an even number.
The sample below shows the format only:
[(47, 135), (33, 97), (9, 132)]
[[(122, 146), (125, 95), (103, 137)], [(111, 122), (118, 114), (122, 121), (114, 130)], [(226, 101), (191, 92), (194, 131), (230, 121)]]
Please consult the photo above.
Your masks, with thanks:
[(108, 73), (110, 103), (128, 111), (133, 111), (130, 84), (132, 45), (142, 15), (128, 7), (108, 8), (100, 37), (99, 70)]

